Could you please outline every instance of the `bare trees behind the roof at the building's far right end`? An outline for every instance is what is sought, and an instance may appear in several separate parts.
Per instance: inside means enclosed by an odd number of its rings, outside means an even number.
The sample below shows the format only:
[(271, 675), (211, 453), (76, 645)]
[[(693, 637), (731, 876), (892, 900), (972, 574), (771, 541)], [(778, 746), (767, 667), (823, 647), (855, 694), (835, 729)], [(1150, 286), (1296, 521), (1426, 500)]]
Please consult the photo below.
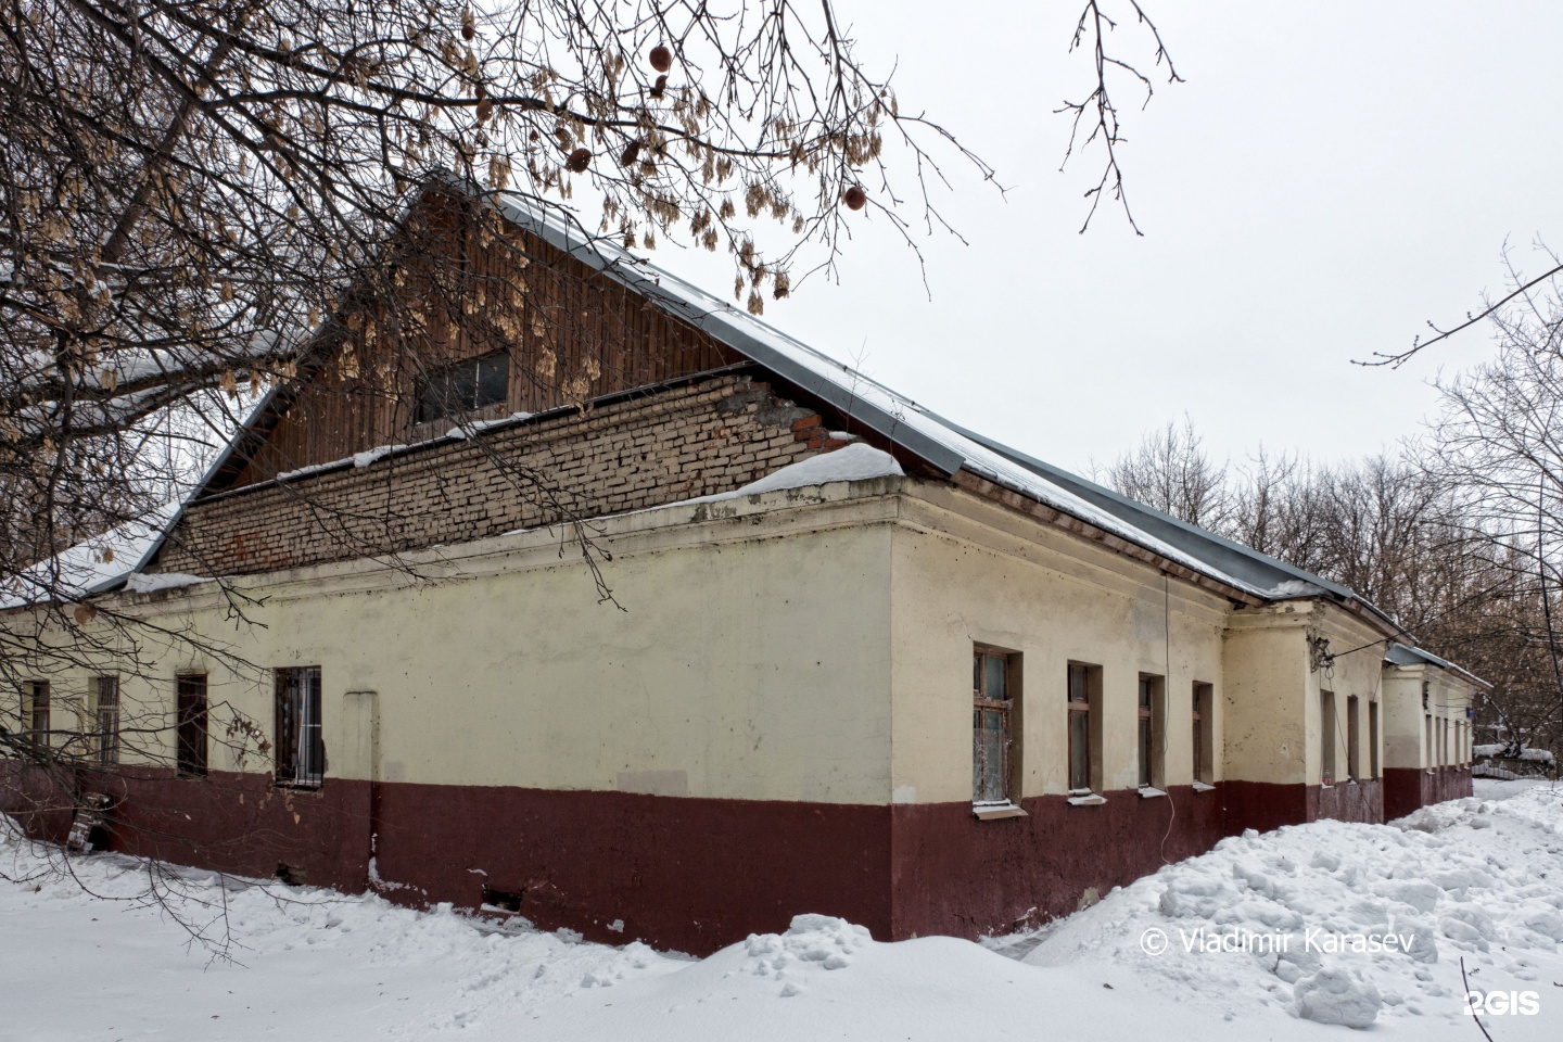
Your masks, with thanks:
[[(1415, 634), (1421, 647), (1493, 684), (1477, 720), (1510, 742), (1555, 748), (1563, 686), (1557, 630), (1555, 328), (1510, 317), (1500, 358), (1444, 386), (1429, 444), (1355, 464), (1313, 466), (1260, 451), (1216, 470), (1185, 419), (1146, 437), (1108, 472), (1121, 492), (1338, 581)], [(1510, 353), (1518, 355), (1510, 356)], [(1214, 511), (1208, 505), (1219, 503)]]

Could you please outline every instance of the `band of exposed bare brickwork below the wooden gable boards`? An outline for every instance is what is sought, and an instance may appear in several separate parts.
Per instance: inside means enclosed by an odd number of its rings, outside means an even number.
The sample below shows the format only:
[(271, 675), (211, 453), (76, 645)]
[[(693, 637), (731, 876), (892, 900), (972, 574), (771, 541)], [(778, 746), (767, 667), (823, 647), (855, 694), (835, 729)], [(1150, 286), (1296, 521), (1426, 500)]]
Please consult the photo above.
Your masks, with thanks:
[(728, 492), (841, 444), (728, 373), (192, 503), (158, 570), (241, 575), (467, 542)]

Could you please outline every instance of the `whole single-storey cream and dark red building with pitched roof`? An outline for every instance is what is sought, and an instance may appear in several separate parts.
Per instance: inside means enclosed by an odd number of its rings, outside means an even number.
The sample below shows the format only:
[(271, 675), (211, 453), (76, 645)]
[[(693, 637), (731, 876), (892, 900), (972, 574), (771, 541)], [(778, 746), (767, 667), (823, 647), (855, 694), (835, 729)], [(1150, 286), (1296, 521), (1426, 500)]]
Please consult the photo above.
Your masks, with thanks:
[[(802, 911), (1007, 931), (1469, 792), (1479, 681), (1352, 591), (505, 217), (630, 316), (583, 401), (528, 397), (536, 351), (578, 364), (545, 337), (352, 414), (327, 355), (83, 589), (155, 626), (139, 667), (30, 662), (17, 726), (116, 748), (117, 848), (710, 951)], [(39, 784), (11, 806), (61, 834)]]

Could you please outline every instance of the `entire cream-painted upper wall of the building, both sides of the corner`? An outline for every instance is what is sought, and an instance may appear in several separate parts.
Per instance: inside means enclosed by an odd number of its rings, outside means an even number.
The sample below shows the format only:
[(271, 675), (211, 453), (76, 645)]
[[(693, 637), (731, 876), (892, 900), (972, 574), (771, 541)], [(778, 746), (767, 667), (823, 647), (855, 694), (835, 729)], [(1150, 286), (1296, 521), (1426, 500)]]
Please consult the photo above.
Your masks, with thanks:
[[(1318, 783), (1319, 691), (1379, 697), (1382, 634), (1316, 601), (1225, 598), (977, 495), (880, 480), (602, 522), (617, 601), (558, 536), (413, 555), (430, 581), (345, 562), (125, 598), (208, 650), (152, 641), (127, 736), (173, 755), (173, 676), (274, 726), (270, 669), (319, 666), (330, 776), (839, 803), (971, 798), (974, 644), (1022, 656), (1021, 795), (1068, 789), (1068, 664), (1102, 667), (1102, 787), (1138, 783), (1139, 673), (1164, 676), (1161, 784), (1188, 784), (1191, 695), (1213, 684), (1213, 776)], [(8, 619), (14, 620), (14, 616)], [(1308, 664), (1310, 634), (1336, 655)], [(228, 644), (233, 642), (233, 644)], [(234, 667), (224, 653), (250, 667)], [(105, 672), (114, 667), (103, 664)], [(119, 670), (128, 673), (130, 670)], [(86, 670), (52, 678), (88, 691)], [(58, 703), (56, 703), (58, 705)], [(59, 709), (56, 709), (59, 712)], [(59, 717), (56, 715), (56, 720)], [(1386, 711), (1383, 765), (1397, 717)], [(1338, 775), (1347, 762), (1344, 728)], [(261, 765), (227, 750), (216, 769)], [(1371, 751), (1363, 750), (1363, 765)]]

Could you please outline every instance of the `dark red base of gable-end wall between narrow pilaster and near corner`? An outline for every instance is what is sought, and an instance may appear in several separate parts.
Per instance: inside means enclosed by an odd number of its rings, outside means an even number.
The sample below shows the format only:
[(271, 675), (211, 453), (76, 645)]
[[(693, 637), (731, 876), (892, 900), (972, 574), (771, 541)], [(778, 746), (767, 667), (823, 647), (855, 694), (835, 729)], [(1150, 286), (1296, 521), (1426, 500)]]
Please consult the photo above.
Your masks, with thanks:
[(700, 955), (808, 911), (888, 937), (889, 848), (883, 806), (416, 784), (378, 797), (380, 875), (419, 900), (475, 908), (486, 884), (519, 892), (545, 930)]

